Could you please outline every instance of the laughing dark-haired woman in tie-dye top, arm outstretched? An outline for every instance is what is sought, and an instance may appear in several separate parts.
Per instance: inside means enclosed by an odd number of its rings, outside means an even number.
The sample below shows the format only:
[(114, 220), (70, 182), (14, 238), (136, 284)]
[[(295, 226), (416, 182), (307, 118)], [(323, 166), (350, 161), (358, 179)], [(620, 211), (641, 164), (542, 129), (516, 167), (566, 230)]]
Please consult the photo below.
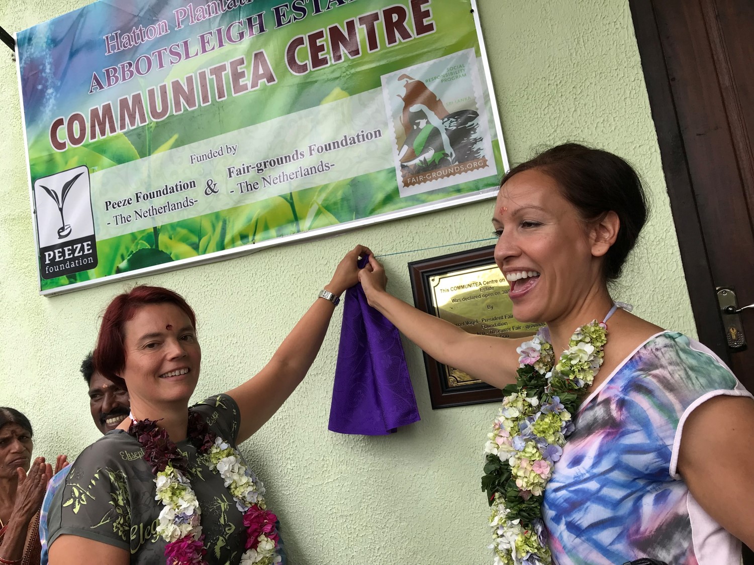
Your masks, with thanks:
[(608, 151), (558, 145), (504, 176), (495, 262), (513, 316), (546, 324), (523, 344), (394, 298), (372, 257), (359, 274), (406, 337), (506, 393), (480, 469), (495, 563), (738, 565), (736, 537), (754, 547), (752, 395), (610, 295), (646, 218), (639, 176)]

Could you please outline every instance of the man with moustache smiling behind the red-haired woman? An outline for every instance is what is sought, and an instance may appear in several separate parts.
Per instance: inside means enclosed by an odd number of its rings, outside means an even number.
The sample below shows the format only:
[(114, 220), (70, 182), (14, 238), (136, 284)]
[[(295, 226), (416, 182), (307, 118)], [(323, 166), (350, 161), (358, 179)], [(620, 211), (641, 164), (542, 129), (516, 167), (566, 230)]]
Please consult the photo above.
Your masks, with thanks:
[[(121, 389), (120, 386), (113, 383), (111, 380), (106, 379), (100, 373), (94, 370), (94, 363), (92, 361), (92, 354), (89, 353), (84, 361), (81, 362), (81, 374), (84, 375), (84, 380), (87, 381), (89, 386), (89, 408), (92, 414), (92, 420), (94, 425), (103, 434), (110, 432), (117, 428), (120, 423), (128, 417), (130, 414), (130, 400), (128, 398), (128, 391)], [(40, 565), (48, 565), (48, 525), (47, 515), (50, 505), (52, 504), (52, 497), (55, 491), (66, 481), (66, 476), (71, 470), (71, 466), (65, 462), (66, 456), (63, 460), (58, 460), (58, 467), (61, 464), (65, 464), (66, 467), (61, 469), (60, 472), (50, 479), (48, 484), (47, 493), (44, 495), (44, 501), (42, 502), (42, 509), (39, 514), (39, 538), (42, 544), (41, 562)]]

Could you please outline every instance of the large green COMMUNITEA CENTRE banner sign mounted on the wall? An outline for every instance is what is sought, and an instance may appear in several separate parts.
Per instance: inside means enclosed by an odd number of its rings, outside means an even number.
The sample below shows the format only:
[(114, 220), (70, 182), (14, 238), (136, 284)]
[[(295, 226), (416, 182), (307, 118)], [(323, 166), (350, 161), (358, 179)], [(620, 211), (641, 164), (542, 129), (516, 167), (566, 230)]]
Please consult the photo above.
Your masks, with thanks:
[(100, 0), (17, 50), (42, 294), (489, 198), (507, 169), (473, 0)]

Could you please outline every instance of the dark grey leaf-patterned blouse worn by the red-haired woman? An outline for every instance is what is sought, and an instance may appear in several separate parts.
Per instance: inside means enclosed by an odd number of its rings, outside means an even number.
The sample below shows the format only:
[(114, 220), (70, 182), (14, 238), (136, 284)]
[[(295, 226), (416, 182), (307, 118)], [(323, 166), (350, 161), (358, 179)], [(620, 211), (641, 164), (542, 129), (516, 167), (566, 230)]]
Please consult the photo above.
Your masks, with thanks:
[[(235, 447), (238, 405), (228, 395), (212, 396), (189, 410), (201, 413), (210, 429)], [(188, 477), (201, 506), (201, 526), (210, 565), (235, 565), (244, 553), (243, 515), (222, 477), (199, 460), (189, 441), (179, 450), (189, 460)], [(130, 551), (130, 563), (165, 563), (165, 542), (156, 533), (161, 503), (155, 500), (155, 475), (144, 450), (127, 432), (115, 429), (81, 452), (48, 515), (50, 542), (72, 535)]]

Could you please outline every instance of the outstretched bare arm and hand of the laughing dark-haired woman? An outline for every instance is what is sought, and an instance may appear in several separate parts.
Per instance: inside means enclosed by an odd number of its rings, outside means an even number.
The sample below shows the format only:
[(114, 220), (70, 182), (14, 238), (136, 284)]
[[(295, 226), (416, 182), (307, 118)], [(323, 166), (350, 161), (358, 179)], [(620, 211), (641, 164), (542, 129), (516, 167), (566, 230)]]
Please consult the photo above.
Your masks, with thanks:
[(523, 340), (469, 334), (395, 298), (385, 291), (385, 269), (371, 255), (369, 265), (359, 273), (359, 281), (369, 305), (429, 356), (500, 389), (516, 382), (516, 347)]

